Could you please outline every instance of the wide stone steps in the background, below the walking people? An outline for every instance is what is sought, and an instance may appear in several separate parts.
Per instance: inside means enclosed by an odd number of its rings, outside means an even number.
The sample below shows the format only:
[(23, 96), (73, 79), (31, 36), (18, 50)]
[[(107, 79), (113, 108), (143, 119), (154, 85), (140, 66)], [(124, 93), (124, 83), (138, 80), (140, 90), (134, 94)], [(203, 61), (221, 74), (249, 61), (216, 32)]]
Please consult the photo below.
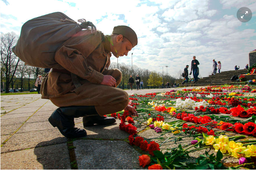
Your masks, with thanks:
[(190, 86), (220, 86), (224, 84), (239, 84), (239, 81), (230, 81), (231, 77), (234, 75), (240, 76), (242, 74), (247, 74), (247, 69), (242, 70), (232, 70), (232, 71), (223, 71), (215, 75), (209, 75), (209, 77), (203, 77), (198, 79), (198, 82), (194, 83), (188, 82), (181, 87), (190, 87)]

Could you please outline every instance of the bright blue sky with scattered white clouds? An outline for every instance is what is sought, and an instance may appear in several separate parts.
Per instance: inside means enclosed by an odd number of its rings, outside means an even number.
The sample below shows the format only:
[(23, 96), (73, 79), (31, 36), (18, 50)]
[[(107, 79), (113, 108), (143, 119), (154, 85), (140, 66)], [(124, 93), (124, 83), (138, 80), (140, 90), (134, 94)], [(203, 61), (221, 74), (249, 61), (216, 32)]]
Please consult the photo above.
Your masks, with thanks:
[[(241, 7), (252, 11), (249, 22), (237, 19)], [(221, 71), (244, 69), (256, 49), (256, 0), (1, 0), (0, 32), (19, 35), (26, 21), (52, 12), (91, 21), (105, 35), (114, 26), (131, 27), (138, 45), (118, 63), (173, 77), (191, 68), (193, 56), (201, 77), (211, 74), (213, 59)], [(117, 62), (113, 55), (111, 62)]]

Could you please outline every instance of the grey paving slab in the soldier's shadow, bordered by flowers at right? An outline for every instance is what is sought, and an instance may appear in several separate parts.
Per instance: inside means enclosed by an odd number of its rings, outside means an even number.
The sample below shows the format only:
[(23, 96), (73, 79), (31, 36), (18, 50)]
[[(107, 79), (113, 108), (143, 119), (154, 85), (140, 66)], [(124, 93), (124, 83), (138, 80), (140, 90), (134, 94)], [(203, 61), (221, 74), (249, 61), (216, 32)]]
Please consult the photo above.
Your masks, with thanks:
[(78, 169), (144, 169), (135, 149), (124, 141), (77, 140)]

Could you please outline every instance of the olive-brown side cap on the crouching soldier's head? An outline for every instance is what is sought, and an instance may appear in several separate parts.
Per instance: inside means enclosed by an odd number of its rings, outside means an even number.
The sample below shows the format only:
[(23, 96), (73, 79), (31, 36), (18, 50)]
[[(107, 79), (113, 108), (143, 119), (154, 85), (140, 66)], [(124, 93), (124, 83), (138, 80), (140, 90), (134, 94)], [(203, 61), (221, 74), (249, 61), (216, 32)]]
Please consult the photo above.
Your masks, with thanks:
[(128, 26), (116, 26), (113, 29), (112, 34), (121, 34), (132, 43), (132, 48), (138, 44), (138, 38), (136, 33)]

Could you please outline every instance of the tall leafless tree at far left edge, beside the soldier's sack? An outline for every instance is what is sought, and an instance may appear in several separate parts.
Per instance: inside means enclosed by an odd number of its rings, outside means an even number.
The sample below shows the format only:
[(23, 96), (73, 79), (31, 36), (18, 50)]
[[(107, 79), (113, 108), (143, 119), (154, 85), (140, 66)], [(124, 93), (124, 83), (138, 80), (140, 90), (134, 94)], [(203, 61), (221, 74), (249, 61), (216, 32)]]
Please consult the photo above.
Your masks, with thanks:
[[(1, 34), (1, 64), (5, 71), (5, 93), (9, 93), (10, 83), (13, 82), (20, 59), (12, 52), (17, 43), (18, 36), (15, 33)], [(2, 70), (2, 68), (1, 68)]]

